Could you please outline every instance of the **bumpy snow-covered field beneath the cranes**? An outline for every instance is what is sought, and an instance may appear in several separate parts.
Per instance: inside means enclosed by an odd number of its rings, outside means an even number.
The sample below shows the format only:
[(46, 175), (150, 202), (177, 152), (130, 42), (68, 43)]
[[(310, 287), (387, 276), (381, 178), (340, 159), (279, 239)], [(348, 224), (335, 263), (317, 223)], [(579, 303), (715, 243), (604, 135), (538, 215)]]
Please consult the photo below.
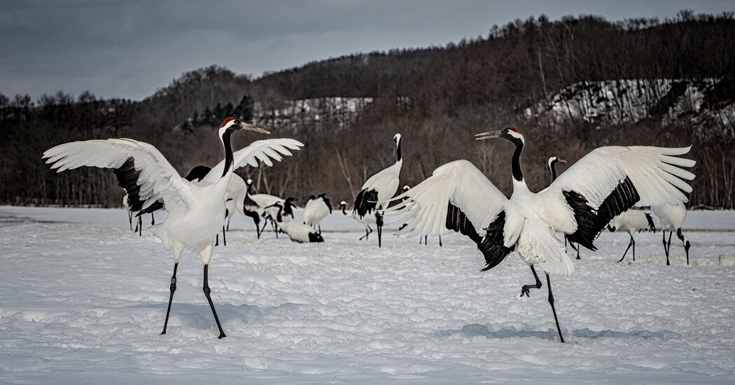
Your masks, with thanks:
[(514, 254), (481, 273), (459, 235), (378, 248), (335, 212), (302, 245), (245, 219), (209, 268), (217, 339), (195, 253), (162, 336), (173, 257), (122, 209), (0, 206), (0, 383), (735, 383), (735, 212), (689, 213), (690, 266), (658, 232), (616, 263), (628, 235), (603, 233), (551, 278), (564, 344)]

